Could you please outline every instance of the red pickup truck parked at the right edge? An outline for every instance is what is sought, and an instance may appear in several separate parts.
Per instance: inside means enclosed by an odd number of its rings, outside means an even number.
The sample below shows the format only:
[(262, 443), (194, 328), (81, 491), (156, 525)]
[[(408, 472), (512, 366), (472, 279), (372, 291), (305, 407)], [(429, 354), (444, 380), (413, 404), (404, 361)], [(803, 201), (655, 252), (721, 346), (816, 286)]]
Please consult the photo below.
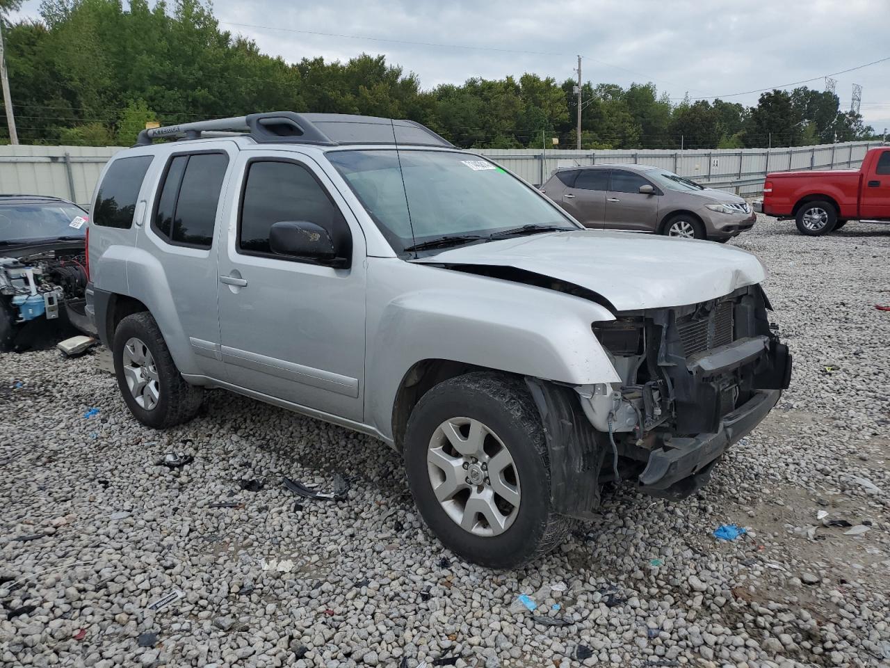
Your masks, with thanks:
[(810, 237), (837, 230), (848, 220), (890, 223), (890, 146), (871, 149), (859, 169), (767, 174), (764, 200), (754, 208), (767, 216), (794, 218), (797, 230)]

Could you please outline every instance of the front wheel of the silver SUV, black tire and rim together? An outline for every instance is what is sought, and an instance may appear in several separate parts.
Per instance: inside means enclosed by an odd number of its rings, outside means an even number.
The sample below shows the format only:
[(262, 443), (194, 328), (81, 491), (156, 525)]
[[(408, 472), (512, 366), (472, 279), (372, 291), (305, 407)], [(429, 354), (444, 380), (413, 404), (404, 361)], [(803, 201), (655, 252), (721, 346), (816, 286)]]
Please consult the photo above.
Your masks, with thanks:
[(554, 513), (540, 415), (522, 379), (474, 372), (417, 403), (405, 434), (417, 509), (441, 542), (481, 566), (513, 568), (565, 540)]

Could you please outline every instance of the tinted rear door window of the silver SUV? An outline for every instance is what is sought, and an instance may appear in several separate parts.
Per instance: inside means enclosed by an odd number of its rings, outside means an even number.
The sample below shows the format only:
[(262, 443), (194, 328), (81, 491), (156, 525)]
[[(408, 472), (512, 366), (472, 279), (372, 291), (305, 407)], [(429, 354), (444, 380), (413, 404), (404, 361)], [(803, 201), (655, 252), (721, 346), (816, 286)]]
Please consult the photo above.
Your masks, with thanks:
[(155, 208), (155, 232), (176, 245), (210, 248), (227, 167), (225, 153), (174, 156)]

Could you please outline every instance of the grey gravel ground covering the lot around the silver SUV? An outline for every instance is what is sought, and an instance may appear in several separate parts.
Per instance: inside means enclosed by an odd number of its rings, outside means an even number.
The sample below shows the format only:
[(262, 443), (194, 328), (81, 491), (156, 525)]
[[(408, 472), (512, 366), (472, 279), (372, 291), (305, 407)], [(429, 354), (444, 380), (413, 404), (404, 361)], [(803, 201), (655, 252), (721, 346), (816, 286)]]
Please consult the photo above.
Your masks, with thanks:
[[(890, 664), (890, 227), (763, 219), (732, 243), (771, 272), (792, 387), (701, 493), (621, 486), (519, 571), (443, 550), (368, 437), (222, 392), (156, 432), (97, 355), (0, 356), (0, 664)], [(344, 501), (280, 484), (336, 473)], [(717, 541), (724, 523), (748, 533)]]

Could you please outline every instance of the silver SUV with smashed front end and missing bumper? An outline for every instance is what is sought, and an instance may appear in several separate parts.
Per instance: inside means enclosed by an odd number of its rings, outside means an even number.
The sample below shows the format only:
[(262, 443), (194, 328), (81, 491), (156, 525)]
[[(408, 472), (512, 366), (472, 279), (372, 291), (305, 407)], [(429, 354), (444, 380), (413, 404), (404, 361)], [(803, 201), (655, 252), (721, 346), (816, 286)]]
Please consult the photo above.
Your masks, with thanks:
[(410, 121), (146, 130), (102, 172), (88, 248), (137, 420), (222, 387), (376, 436), (488, 566), (554, 548), (606, 482), (692, 493), (789, 383), (756, 257), (586, 230)]

